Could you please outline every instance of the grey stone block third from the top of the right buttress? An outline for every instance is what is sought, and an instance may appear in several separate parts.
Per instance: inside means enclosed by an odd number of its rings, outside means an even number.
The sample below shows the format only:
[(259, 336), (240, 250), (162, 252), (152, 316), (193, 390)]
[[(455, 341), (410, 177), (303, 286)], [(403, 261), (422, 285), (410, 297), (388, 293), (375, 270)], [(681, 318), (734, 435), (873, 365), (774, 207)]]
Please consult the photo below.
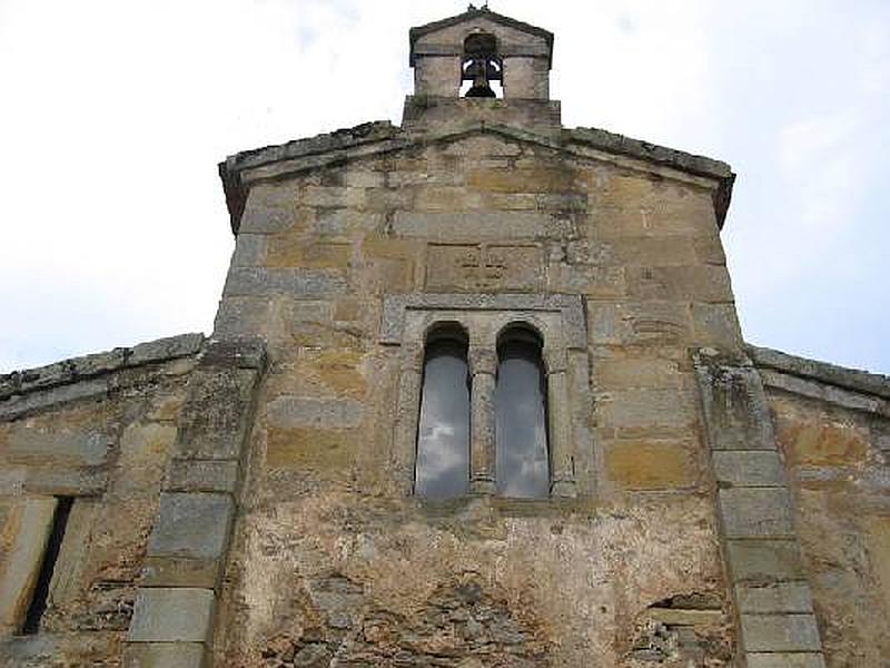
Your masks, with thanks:
[(723, 489), (718, 492), (729, 538), (793, 536), (791, 500), (784, 488)]

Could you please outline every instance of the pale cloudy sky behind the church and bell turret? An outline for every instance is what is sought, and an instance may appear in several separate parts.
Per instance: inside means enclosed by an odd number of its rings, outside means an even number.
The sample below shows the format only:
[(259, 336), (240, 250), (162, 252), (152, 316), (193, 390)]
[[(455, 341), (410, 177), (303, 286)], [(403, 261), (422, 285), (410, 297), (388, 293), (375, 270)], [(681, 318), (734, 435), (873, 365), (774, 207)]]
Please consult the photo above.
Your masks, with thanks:
[[(890, 2), (492, 0), (555, 33), (552, 97), (730, 163), (745, 340), (890, 373)], [(445, 0), (0, 0), (0, 372), (209, 333), (217, 163), (399, 122)]]

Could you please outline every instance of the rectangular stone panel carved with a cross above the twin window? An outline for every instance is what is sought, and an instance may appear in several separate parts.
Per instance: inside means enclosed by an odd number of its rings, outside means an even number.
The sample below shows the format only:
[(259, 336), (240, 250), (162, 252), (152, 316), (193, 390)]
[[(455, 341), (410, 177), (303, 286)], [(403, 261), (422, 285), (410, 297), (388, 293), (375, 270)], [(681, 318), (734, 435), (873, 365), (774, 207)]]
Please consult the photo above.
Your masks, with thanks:
[(426, 287), (436, 291), (535, 291), (543, 283), (540, 246), (431, 244)]

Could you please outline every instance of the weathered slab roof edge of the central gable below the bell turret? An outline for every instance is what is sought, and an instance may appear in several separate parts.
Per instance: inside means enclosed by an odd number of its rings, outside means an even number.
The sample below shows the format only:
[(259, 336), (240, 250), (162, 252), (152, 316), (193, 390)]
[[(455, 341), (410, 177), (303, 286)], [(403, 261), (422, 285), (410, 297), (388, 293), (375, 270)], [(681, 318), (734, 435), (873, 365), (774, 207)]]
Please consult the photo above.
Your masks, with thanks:
[(237, 236), (240, 227), (241, 215), (247, 203), (248, 188), (241, 181), (240, 174), (245, 169), (271, 165), (278, 161), (293, 160), (309, 156), (322, 156), (349, 148), (366, 146), (400, 139), (405, 146), (421, 145), (427, 141), (452, 136), (459, 136), (472, 131), (500, 132), (516, 139), (536, 141), (558, 150), (571, 144), (584, 145), (604, 153), (636, 158), (646, 163), (670, 167), (688, 174), (715, 179), (720, 187), (715, 193), (714, 207), (716, 210), (718, 226), (722, 229), (732, 197), (732, 186), (735, 174), (732, 168), (721, 160), (704, 156), (696, 156), (682, 150), (650, 144), (641, 139), (633, 139), (599, 128), (565, 128), (560, 134), (558, 141), (546, 134), (538, 134), (525, 128), (476, 122), (465, 128), (449, 128), (439, 134), (408, 134), (388, 120), (364, 122), (352, 128), (344, 128), (334, 132), (316, 135), (304, 139), (296, 139), (286, 144), (266, 146), (241, 151), (229, 156), (219, 164), (219, 176), (226, 194), (226, 204), (229, 210), (231, 232)]

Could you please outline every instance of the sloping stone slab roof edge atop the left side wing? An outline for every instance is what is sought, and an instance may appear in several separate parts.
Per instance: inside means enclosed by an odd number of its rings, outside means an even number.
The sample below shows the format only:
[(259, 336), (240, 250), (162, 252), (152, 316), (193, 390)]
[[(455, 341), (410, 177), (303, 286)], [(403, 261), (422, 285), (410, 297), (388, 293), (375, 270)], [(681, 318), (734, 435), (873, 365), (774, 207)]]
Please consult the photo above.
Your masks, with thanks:
[(78, 383), (121, 369), (197, 355), (205, 345), (200, 333), (166, 336), (132, 347), (70, 357), (46, 366), (0, 374), (0, 402), (21, 394)]

